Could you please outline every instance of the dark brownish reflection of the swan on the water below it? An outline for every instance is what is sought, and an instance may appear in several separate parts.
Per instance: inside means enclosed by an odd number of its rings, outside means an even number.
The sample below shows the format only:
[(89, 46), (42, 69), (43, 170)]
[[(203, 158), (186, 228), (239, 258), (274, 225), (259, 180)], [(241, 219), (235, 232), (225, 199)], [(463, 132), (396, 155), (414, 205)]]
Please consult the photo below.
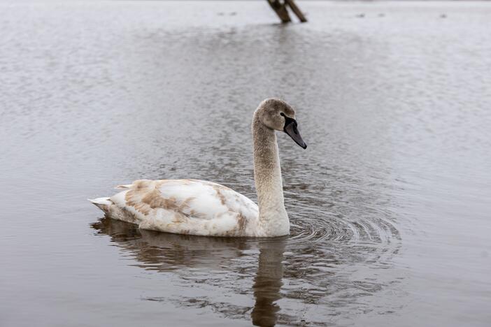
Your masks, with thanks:
[[(100, 219), (91, 225), (97, 233), (108, 235), (111, 242), (131, 255), (138, 261), (141, 268), (169, 272), (178, 270), (185, 274), (183, 268), (206, 268), (216, 270), (220, 266), (234, 271), (241, 270), (249, 277), (252, 271), (248, 261), (231, 263), (234, 259), (241, 259), (244, 251), (257, 252), (259, 250), (259, 263), (257, 273), (253, 279), (252, 291), (255, 298), (254, 307), (237, 307), (219, 303), (218, 311), (226, 317), (247, 317), (250, 314), (252, 324), (256, 326), (274, 326), (278, 320), (280, 307), (276, 303), (281, 298), (280, 288), (283, 285), (283, 253), (287, 238), (268, 240), (254, 240), (247, 238), (208, 238), (192, 235), (178, 235), (159, 233), (138, 229), (134, 224), (117, 221), (109, 218)], [(252, 256), (250, 256), (252, 257)], [(252, 258), (250, 258), (252, 259)], [(257, 259), (256, 259), (257, 260)], [(239, 260), (240, 262), (240, 260)], [(184, 271), (184, 272), (183, 272)], [(195, 270), (193, 270), (195, 272)], [(190, 276), (182, 276), (190, 277)], [(236, 277), (232, 277), (236, 278)], [(185, 278), (189, 282), (189, 278)], [(213, 284), (213, 281), (207, 281)], [(215, 283), (217, 283), (215, 281)], [(227, 284), (226, 282), (224, 284)], [(250, 292), (250, 289), (248, 290)], [(149, 298), (148, 300), (155, 300)], [(168, 300), (165, 298), (158, 300)], [(209, 300), (209, 299), (208, 299)], [(199, 305), (193, 299), (192, 303)], [(190, 305), (183, 298), (181, 305)], [(204, 304), (201, 302), (201, 305)], [(206, 305), (213, 303), (206, 301)], [(218, 307), (218, 305), (217, 305)]]

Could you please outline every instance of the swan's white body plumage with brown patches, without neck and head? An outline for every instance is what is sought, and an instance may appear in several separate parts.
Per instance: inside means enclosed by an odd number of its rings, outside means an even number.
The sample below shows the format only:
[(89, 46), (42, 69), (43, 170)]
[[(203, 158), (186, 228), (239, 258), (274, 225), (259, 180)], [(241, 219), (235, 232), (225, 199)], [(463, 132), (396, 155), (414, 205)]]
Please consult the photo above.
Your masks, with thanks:
[[(121, 188), (121, 187), (118, 187)], [(92, 201), (109, 217), (140, 228), (206, 236), (259, 236), (259, 208), (242, 194), (203, 180), (137, 180)]]

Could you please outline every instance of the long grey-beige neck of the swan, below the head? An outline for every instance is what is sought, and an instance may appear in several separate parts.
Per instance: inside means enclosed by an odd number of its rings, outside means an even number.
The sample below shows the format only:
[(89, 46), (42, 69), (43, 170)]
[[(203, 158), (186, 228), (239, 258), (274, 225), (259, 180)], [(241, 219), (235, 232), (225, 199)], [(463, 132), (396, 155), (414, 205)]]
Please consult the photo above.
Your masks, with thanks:
[(252, 138), (259, 227), (267, 236), (287, 235), (290, 233), (290, 221), (283, 201), (283, 182), (275, 131), (262, 124), (258, 115), (254, 115)]

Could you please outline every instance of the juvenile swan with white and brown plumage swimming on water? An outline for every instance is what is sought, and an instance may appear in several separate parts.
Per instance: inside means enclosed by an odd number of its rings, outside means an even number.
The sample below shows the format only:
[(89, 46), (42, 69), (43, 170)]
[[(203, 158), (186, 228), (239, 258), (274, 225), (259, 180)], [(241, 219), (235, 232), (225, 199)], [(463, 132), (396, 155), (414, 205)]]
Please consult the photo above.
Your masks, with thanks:
[(276, 131), (284, 131), (306, 149), (293, 108), (266, 99), (252, 118), (254, 179), (259, 208), (249, 198), (204, 180), (136, 180), (111, 198), (90, 200), (108, 217), (168, 233), (273, 237), (288, 235), (290, 221), (283, 204)]

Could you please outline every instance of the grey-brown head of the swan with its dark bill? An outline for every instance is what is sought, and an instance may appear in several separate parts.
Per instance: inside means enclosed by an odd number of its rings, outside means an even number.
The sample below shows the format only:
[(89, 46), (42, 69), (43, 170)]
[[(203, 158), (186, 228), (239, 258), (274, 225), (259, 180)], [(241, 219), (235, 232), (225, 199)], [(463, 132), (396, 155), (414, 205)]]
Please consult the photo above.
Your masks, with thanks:
[(297, 120), (295, 120), (295, 110), (283, 100), (266, 99), (259, 104), (255, 115), (266, 127), (275, 129), (276, 131), (284, 131), (298, 145), (307, 148), (304, 140), (300, 136), (297, 128)]

